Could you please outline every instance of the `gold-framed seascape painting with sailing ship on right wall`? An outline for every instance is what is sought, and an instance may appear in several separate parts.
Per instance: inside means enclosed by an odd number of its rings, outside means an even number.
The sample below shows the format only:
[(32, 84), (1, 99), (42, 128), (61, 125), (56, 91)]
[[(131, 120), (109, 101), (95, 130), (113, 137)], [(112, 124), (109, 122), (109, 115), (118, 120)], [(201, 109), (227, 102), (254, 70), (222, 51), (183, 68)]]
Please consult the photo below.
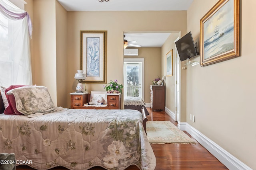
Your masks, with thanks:
[(200, 20), (201, 66), (239, 56), (239, 1), (219, 0)]

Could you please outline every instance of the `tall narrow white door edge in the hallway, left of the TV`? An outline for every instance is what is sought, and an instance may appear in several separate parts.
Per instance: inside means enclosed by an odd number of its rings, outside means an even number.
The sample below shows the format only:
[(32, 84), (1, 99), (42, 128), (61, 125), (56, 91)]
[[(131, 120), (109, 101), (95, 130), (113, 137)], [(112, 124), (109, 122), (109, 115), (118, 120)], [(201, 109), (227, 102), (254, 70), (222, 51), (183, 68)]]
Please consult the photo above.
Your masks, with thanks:
[[(178, 37), (179, 39), (179, 37)], [(176, 39), (175, 41), (177, 41)], [(175, 80), (176, 80), (176, 85), (175, 85), (175, 113), (176, 113), (176, 121), (180, 121), (180, 56), (178, 54), (178, 51), (175, 46), (175, 56), (176, 56), (176, 70), (175, 70)]]

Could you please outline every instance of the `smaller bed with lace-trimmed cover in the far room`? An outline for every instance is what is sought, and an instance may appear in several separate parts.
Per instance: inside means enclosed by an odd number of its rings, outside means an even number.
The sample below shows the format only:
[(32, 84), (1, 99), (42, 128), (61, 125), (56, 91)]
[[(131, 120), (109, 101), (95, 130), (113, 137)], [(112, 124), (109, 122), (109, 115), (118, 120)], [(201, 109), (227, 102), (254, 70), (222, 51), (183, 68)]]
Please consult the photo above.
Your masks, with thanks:
[(142, 108), (145, 108), (146, 115), (149, 115), (145, 104), (146, 103), (140, 97), (132, 97), (132, 96), (124, 97), (124, 109), (134, 109), (134, 110), (141, 111)]

